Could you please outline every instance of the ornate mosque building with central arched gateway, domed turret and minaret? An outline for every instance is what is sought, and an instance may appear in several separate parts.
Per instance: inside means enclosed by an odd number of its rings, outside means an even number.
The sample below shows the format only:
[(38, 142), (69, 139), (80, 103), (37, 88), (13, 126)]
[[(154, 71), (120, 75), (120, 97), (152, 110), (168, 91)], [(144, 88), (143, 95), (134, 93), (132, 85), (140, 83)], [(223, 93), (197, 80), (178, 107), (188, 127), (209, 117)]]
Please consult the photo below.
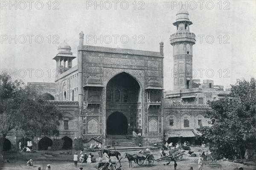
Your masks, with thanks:
[[(207, 100), (229, 96), (229, 92), (220, 90), (212, 80), (204, 80), (202, 85), (194, 80), (198, 87), (193, 87), (195, 34), (189, 29), (192, 22), (188, 11), (178, 11), (173, 25), (173, 91), (163, 91), (163, 42), (159, 43), (159, 52), (106, 48), (84, 45), (84, 33), (80, 32), (76, 66), (72, 65), (76, 56), (70, 45), (59, 45), (53, 58), (58, 75), (47, 92), (55, 99), (49, 102), (63, 111), (58, 138), (64, 139), (67, 148), (91, 139), (109, 144), (116, 136), (132, 136), (133, 131), (141, 133), (144, 144), (178, 142), (182, 138), (195, 142), (200, 136), (196, 128), (209, 125), (205, 118), (210, 110)], [(21, 139), (25, 144), (32, 140), (34, 149), (39, 150), (52, 146), (53, 138), (25, 139), (12, 132), (6, 136), (13, 147), (20, 147)]]

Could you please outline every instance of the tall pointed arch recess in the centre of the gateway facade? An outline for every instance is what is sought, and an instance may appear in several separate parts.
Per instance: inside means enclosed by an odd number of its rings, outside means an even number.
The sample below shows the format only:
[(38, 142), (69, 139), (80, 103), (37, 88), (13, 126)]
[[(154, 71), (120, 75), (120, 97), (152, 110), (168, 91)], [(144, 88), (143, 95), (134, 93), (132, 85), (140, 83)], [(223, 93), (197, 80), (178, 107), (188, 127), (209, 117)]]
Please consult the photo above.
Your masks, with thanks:
[(110, 79), (106, 87), (107, 135), (126, 135), (139, 129), (139, 105), (140, 84), (134, 77), (122, 72)]

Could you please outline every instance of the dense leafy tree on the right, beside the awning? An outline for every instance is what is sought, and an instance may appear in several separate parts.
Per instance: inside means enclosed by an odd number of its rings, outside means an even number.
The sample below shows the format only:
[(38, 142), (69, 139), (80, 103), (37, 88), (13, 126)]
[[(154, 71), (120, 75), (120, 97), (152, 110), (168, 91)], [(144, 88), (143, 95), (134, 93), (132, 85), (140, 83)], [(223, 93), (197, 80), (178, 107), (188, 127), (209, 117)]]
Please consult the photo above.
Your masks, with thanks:
[(209, 142), (215, 159), (244, 155), (245, 149), (256, 147), (256, 81), (254, 78), (237, 80), (231, 86), (232, 99), (228, 97), (209, 102), (212, 111), (207, 112), (211, 126), (197, 130)]

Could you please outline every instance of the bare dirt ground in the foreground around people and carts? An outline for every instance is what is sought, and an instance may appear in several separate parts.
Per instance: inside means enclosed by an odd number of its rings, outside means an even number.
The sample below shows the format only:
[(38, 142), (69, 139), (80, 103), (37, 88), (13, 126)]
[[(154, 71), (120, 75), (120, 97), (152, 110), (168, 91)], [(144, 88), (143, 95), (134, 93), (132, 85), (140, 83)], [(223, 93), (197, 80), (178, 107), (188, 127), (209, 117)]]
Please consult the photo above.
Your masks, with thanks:
[[(197, 154), (197, 157), (189, 157), (187, 151), (185, 155), (183, 155), (183, 159), (181, 161), (177, 161), (177, 170), (189, 170), (190, 167), (193, 167), (194, 170), (198, 170), (198, 150), (202, 149), (201, 147), (191, 147), (191, 150)], [(203, 148), (207, 150), (207, 148)], [(62, 150), (62, 151), (37, 151), (36, 153), (4, 153), (3, 159), (3, 170), (38, 170), (38, 167), (41, 167), (41, 170), (45, 170), (47, 164), (51, 164), (51, 170), (79, 170), (79, 167), (83, 167), (84, 170), (96, 170), (94, 166), (98, 163), (78, 163), (78, 166), (75, 167), (73, 163), (73, 154), (77, 152), (78, 154), (80, 151), (72, 150), (71, 155), (63, 155), (59, 154), (61, 152), (70, 152), (71, 150)], [(55, 153), (57, 156), (47, 155), (45, 153)], [(90, 152), (86, 152), (89, 155)], [(133, 167), (129, 168), (128, 159), (124, 159), (125, 152), (120, 152), (121, 156), (123, 157), (121, 160), (122, 170), (174, 170), (174, 162), (171, 162), (169, 165), (166, 164), (168, 161), (154, 161), (152, 167), (147, 167), (145, 162), (143, 165), (137, 165), (133, 162)], [(128, 153), (134, 154), (138, 153), (138, 151), (130, 151)], [(154, 159), (159, 159), (160, 154), (159, 150), (151, 150)], [(92, 153), (96, 157), (96, 161), (99, 159), (98, 153)], [(27, 167), (26, 161), (29, 159), (33, 159), (34, 167)], [(10, 163), (6, 163), (9, 160)], [(115, 162), (117, 159), (116, 157), (111, 157), (112, 162)], [(134, 167), (135, 165), (135, 167)], [(212, 164), (204, 164), (203, 170), (233, 170), (235, 167), (243, 167), (244, 170), (256, 170), (256, 165), (244, 165), (233, 163), (231, 161), (217, 161)]]

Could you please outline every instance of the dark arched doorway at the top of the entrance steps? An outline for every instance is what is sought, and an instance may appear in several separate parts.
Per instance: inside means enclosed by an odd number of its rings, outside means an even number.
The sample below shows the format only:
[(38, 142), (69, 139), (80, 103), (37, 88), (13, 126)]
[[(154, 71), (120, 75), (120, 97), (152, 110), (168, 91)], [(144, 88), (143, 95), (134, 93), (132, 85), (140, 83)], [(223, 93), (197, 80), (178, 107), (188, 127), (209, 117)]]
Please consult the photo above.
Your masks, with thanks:
[(108, 116), (107, 134), (108, 135), (126, 135), (128, 131), (128, 122), (124, 114), (114, 112)]

